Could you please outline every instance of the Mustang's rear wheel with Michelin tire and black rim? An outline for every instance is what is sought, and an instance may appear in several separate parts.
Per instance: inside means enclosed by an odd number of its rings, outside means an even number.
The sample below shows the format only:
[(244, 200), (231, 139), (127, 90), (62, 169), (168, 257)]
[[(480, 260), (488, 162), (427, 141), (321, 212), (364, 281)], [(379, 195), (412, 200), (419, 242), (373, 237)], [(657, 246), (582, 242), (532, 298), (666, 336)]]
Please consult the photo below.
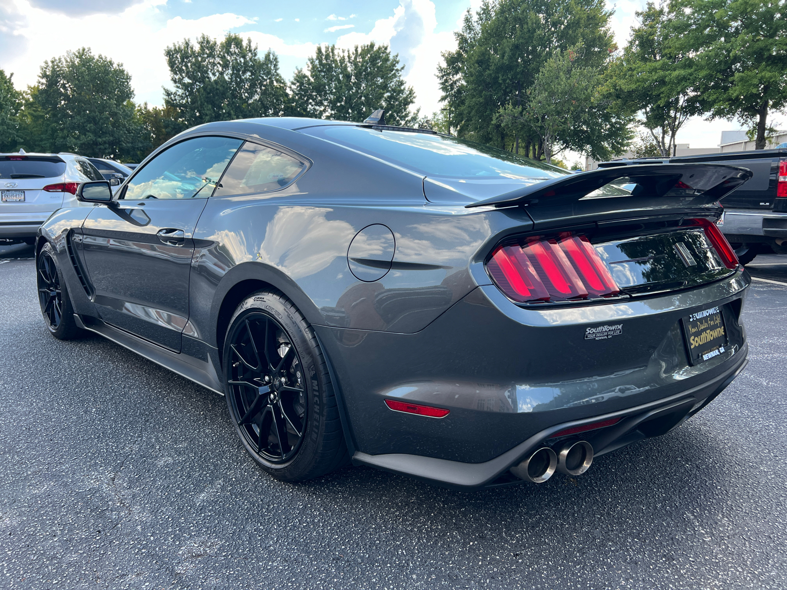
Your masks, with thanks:
[(323, 354), (282, 294), (235, 310), (224, 339), (227, 406), (246, 451), (275, 478), (305, 481), (348, 460)]

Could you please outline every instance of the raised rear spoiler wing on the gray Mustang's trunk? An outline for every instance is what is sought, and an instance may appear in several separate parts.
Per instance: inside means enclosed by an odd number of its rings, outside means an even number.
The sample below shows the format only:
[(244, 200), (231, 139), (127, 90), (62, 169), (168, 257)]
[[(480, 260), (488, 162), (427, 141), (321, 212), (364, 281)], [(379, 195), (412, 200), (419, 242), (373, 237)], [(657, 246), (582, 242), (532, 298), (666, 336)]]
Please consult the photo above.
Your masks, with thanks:
[[(746, 168), (724, 164), (633, 164), (600, 168), (579, 174), (567, 174), (556, 179), (545, 180), (521, 189), (465, 205), (466, 208), (492, 206), (496, 208), (517, 205), (566, 205), (586, 197), (617, 179), (630, 179), (636, 184), (630, 195), (622, 195), (635, 201), (651, 201), (661, 197), (678, 200), (688, 199), (690, 205), (709, 205), (752, 178)], [(678, 189), (678, 194), (669, 194)], [(679, 190), (693, 191), (680, 194)], [(632, 203), (633, 205), (633, 203)], [(686, 205), (689, 205), (687, 203)]]

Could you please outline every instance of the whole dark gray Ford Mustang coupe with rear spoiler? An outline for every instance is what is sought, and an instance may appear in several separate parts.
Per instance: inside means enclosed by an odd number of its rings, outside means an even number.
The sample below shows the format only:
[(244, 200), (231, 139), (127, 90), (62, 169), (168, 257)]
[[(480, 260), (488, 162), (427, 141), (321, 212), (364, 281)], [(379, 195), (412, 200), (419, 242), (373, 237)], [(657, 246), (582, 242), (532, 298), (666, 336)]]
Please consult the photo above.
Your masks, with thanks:
[(39, 299), (54, 337), (102, 334), (224, 394), (283, 481), (352, 462), (538, 483), (667, 433), (743, 369), (750, 279), (715, 221), (750, 176), (205, 124), (42, 225)]

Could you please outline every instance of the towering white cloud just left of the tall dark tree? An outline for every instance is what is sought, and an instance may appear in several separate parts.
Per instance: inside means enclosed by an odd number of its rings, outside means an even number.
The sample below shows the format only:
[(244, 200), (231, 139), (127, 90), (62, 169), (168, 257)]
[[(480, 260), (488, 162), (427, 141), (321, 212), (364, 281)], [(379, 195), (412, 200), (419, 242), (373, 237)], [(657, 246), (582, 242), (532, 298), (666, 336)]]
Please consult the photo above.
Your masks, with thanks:
[(390, 45), (405, 65), (405, 80), (416, 90), (416, 107), (423, 115), (440, 109), (440, 88), (435, 77), (441, 53), (456, 49), (453, 31), (437, 28), (434, 3), (430, 0), (399, 0), (393, 16), (377, 20), (368, 33), (353, 31), (339, 37), (336, 45), (345, 49), (371, 41)]

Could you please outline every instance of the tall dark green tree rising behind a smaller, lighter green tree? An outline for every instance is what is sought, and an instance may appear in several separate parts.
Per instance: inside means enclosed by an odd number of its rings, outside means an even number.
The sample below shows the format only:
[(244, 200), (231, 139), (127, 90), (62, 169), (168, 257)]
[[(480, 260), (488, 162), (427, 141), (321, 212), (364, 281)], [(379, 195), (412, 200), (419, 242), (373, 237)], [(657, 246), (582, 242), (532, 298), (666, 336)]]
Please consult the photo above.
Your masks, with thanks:
[[(514, 137), (495, 115), (524, 103), (524, 94), (553, 50), (582, 44), (578, 66), (600, 67), (615, 50), (604, 0), (484, 0), (455, 33), (457, 48), (438, 69), (457, 135), (508, 149)], [(530, 142), (525, 137), (525, 153)], [(538, 149), (534, 149), (534, 152)]]

